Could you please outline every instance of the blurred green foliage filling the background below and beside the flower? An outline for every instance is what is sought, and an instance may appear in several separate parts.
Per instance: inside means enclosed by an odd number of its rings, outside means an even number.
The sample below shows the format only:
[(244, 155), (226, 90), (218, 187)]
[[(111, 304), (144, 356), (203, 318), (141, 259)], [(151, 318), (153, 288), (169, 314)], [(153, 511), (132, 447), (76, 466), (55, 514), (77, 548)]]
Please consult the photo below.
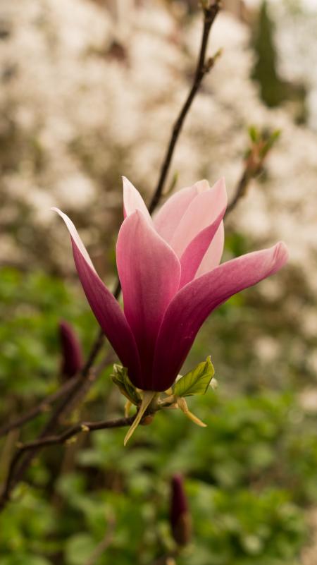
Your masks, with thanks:
[[(239, 234), (228, 242), (228, 255), (247, 247)], [(81, 297), (76, 288), (41, 273), (1, 271), (0, 386), (8, 399), (1, 407), (3, 422), (58, 387), (60, 317), (89, 346), (97, 327)], [(264, 365), (252, 340), (261, 332), (278, 336), (281, 344), (289, 340), (285, 320), (281, 327), (275, 322), (275, 309), (274, 302), (248, 291), (215, 312), (201, 334), (188, 364), (208, 351), (210, 341), (221, 386), (208, 387), (209, 358), (177, 386), (186, 385), (187, 395), (208, 389), (188, 399), (190, 410), (208, 425), (204, 430), (180, 411), (166, 410), (151, 425), (139, 426), (125, 448), (127, 430), (118, 429), (44, 449), (0, 514), (1, 565), (86, 565), (107, 535), (108, 547), (96, 565), (151, 564), (174, 547), (169, 488), (170, 477), (180, 472), (186, 476), (194, 537), (178, 565), (297, 565), (306, 540), (304, 508), (317, 502), (316, 418), (305, 415), (290, 387), (285, 392), (276, 386), (273, 393), (258, 386)], [(290, 384), (297, 369), (288, 351), (282, 349), (283, 364), (276, 366), (284, 367)], [(122, 415), (124, 400), (111, 371), (108, 367), (94, 384), (77, 418)], [(116, 377), (125, 382), (118, 367)], [(265, 377), (270, 382), (268, 366)], [(21, 439), (38, 435), (44, 418), (27, 424)], [(16, 439), (0, 440), (0, 481)]]

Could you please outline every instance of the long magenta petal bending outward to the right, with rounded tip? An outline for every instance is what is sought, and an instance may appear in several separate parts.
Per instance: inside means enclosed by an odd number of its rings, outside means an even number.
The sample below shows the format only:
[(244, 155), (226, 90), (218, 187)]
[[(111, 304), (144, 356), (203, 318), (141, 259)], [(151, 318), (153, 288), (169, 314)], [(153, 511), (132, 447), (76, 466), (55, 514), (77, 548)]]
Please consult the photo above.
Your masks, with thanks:
[(233, 294), (277, 272), (287, 257), (284, 243), (278, 243), (223, 263), (184, 286), (163, 317), (154, 357), (154, 390), (173, 384), (206, 317)]

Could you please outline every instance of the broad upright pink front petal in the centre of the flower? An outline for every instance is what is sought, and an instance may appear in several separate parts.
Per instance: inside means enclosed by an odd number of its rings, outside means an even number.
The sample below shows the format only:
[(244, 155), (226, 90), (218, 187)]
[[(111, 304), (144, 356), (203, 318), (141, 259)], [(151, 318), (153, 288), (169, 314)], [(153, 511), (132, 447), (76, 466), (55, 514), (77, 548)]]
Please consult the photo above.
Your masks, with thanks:
[(178, 290), (180, 262), (142, 212), (136, 210), (120, 228), (117, 266), (125, 317), (139, 349), (142, 388), (151, 389), (156, 337), (164, 312)]

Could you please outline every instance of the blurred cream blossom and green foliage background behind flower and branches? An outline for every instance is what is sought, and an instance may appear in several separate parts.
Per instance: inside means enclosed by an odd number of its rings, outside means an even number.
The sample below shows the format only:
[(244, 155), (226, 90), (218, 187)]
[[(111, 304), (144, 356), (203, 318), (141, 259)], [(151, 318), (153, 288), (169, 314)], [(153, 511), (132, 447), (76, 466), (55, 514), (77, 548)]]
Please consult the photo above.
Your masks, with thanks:
[[(315, 0), (223, 0), (209, 52), (223, 51), (173, 159), (174, 190), (225, 176), (232, 197), (250, 128), (280, 131), (225, 221), (224, 258), (282, 239), (290, 262), (197, 338), (184, 371), (211, 355), (218, 389), (189, 401), (208, 427), (169, 411), (125, 449), (125, 430), (46, 449), (0, 515), (1, 565), (154, 564), (173, 547), (173, 473), (193, 517), (178, 564), (316, 565), (316, 29)], [(86, 353), (97, 332), (50, 207), (70, 215), (113, 286), (121, 176), (149, 202), (200, 35), (196, 0), (1, 1), (1, 423), (61, 384), (62, 318)], [(68, 423), (123, 413), (110, 373)], [(0, 439), (0, 482), (46, 418)]]

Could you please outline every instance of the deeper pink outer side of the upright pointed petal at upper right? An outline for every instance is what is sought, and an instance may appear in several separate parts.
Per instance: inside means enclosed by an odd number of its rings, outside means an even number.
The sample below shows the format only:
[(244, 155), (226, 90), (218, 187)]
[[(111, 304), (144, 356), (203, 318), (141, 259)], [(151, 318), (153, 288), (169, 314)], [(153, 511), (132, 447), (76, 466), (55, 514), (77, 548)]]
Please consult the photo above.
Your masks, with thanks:
[(180, 258), (180, 265), (182, 267), (180, 288), (194, 279), (197, 269), (201, 264), (201, 260), (204, 257), (206, 250), (209, 248), (209, 245), (211, 245), (213, 237), (216, 235), (224, 214), (225, 208), (223, 208), (216, 220), (213, 221), (210, 226), (200, 231), (189, 245), (187, 245), (187, 248)]

